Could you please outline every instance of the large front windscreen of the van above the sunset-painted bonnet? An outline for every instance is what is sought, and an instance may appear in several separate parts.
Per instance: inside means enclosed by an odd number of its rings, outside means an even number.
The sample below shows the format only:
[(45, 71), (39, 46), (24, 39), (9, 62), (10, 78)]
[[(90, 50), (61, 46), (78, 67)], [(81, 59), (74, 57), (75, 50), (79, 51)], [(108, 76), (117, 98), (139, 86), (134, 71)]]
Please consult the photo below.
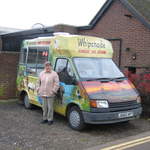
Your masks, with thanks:
[(123, 73), (112, 59), (73, 58), (77, 72), (82, 79), (121, 78)]

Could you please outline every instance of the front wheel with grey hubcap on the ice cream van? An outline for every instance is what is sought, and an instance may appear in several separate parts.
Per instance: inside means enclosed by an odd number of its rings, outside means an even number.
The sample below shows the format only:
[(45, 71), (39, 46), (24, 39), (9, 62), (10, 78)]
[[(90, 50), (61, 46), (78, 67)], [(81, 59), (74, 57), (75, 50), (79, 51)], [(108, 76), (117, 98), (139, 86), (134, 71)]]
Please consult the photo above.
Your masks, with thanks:
[(79, 107), (73, 106), (68, 110), (67, 114), (69, 126), (74, 129), (81, 131), (83, 128), (85, 128), (85, 123), (83, 119), (83, 115)]

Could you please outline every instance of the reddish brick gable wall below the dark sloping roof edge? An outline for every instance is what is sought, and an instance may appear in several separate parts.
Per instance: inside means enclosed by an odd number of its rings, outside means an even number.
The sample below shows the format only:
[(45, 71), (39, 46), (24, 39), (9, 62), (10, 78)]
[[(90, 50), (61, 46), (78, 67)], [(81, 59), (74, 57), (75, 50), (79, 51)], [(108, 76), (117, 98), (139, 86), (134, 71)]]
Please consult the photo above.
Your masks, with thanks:
[[(84, 30), (79, 33), (106, 39), (121, 38), (121, 67), (150, 67), (150, 30), (135, 17), (128, 18), (124, 16), (125, 14), (131, 13), (116, 0), (92, 30)], [(130, 50), (126, 51), (126, 48)], [(115, 53), (118, 53), (116, 48), (114, 50)], [(134, 54), (136, 54), (135, 60), (132, 59)], [(114, 59), (117, 63), (117, 57)]]

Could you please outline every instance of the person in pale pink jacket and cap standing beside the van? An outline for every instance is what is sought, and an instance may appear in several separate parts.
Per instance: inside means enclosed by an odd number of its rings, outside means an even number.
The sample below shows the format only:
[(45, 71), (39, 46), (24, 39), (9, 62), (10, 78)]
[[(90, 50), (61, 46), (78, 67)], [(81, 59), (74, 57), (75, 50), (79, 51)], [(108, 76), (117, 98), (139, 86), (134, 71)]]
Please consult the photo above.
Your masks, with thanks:
[(50, 62), (45, 63), (44, 70), (39, 75), (38, 95), (43, 99), (43, 120), (41, 123), (53, 124), (53, 102), (59, 88), (59, 77), (52, 70)]

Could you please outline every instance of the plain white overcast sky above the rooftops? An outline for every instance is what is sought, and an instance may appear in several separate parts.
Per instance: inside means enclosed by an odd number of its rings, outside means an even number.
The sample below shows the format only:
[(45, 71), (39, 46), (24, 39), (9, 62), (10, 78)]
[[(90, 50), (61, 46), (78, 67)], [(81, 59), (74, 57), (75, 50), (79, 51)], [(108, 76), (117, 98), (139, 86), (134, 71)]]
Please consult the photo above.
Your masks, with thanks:
[(0, 0), (0, 26), (31, 29), (69, 24), (88, 25), (106, 0)]

